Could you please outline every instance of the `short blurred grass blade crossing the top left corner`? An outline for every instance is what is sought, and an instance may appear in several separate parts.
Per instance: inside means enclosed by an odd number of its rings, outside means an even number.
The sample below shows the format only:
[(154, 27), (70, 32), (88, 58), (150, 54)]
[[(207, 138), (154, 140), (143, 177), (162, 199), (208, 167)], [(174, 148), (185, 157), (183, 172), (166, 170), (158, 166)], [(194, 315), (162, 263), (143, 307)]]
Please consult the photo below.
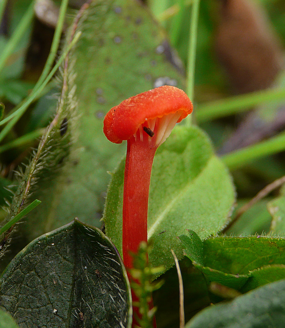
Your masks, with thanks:
[(30, 6), (28, 7), (27, 11), (25, 12), (24, 16), (21, 19), (21, 22), (18, 24), (15, 32), (12, 34), (11, 38), (9, 39), (5, 49), (2, 51), (0, 55), (0, 74), (2, 73), (3, 69), (5, 68), (6, 60), (15, 50), (19, 40), (29, 28), (32, 23), (32, 19), (34, 16), (34, 3), (33, 0)]

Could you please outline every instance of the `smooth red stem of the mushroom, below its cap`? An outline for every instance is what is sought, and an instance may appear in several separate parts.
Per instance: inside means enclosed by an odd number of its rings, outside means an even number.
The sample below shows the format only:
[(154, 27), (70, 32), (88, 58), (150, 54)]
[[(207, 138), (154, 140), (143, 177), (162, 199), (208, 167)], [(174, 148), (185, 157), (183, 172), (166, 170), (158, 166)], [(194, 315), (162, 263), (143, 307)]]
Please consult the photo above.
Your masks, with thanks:
[[(149, 138), (149, 137), (148, 137)], [(148, 200), (151, 168), (157, 147), (145, 140), (128, 140), (123, 199), (123, 258), (133, 267), (131, 253), (148, 241)], [(134, 142), (135, 141), (135, 142)]]

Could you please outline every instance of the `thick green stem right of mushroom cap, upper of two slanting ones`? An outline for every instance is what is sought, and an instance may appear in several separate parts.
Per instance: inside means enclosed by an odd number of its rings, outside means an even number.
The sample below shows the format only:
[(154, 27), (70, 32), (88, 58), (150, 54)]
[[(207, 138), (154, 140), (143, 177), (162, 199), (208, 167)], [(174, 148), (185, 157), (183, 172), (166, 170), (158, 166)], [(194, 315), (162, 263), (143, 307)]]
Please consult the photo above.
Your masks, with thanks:
[(197, 122), (233, 115), (250, 110), (253, 106), (285, 98), (285, 89), (261, 90), (202, 104), (196, 111)]

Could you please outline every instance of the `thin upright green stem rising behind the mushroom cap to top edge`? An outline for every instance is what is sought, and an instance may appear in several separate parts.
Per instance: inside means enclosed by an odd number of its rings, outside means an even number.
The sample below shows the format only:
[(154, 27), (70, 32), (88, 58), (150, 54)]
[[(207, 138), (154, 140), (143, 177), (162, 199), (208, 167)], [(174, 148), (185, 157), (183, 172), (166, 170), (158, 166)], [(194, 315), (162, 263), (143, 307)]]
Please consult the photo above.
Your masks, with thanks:
[[(188, 63), (187, 63), (187, 89), (188, 97), (194, 100), (194, 78), (195, 78), (195, 61), (196, 61), (196, 47), (197, 47), (197, 29), (199, 18), (199, 5), (200, 0), (194, 0), (191, 11), (190, 22), (190, 39), (188, 49)], [(190, 125), (191, 117), (187, 117), (187, 124)]]

